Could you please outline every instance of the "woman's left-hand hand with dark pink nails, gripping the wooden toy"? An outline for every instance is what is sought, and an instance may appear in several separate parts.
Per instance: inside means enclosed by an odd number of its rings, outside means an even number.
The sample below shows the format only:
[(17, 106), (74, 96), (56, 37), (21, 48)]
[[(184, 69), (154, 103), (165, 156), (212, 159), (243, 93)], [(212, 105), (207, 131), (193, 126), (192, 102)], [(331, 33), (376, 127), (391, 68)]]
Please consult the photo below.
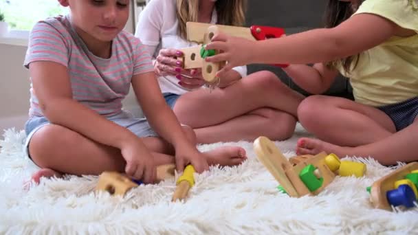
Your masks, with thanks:
[(177, 56), (181, 55), (182, 52), (177, 51), (177, 49), (160, 49), (154, 64), (155, 74), (166, 76), (183, 72), (182, 63), (177, 60)]

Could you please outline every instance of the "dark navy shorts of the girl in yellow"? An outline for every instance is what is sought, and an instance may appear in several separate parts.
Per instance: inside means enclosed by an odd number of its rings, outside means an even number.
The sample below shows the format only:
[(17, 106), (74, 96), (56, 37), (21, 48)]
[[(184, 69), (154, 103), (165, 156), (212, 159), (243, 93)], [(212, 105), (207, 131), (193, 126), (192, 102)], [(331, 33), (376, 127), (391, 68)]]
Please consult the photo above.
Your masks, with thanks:
[(388, 104), (382, 107), (377, 107), (386, 113), (395, 124), (396, 131), (401, 131), (406, 128), (418, 115), (418, 97), (411, 98), (396, 104)]

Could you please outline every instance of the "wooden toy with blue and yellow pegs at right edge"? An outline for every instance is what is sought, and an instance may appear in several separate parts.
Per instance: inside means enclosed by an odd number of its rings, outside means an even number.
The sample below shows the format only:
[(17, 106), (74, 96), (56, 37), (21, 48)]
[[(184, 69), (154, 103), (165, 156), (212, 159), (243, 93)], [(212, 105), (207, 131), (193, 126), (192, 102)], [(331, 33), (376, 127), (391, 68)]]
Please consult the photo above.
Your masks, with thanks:
[(418, 162), (412, 162), (375, 181), (370, 199), (375, 208), (395, 210), (418, 207)]

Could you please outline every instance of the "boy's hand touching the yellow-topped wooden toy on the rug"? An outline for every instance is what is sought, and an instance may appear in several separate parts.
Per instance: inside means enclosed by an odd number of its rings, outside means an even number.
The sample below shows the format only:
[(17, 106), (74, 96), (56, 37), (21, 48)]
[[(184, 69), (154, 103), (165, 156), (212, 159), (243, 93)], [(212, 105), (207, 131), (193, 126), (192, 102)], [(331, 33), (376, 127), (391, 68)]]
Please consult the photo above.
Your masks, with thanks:
[(176, 148), (175, 164), (179, 171), (183, 171), (188, 164), (192, 164), (196, 172), (199, 173), (209, 170), (208, 161), (194, 146)]

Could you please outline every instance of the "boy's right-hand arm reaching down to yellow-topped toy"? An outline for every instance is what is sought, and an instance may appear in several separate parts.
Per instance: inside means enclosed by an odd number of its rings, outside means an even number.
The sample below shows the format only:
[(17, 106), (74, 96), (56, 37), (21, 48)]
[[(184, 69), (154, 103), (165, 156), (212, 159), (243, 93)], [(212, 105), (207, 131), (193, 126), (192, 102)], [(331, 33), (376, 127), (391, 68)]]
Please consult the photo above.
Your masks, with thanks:
[(201, 157), (195, 144), (188, 140), (173, 110), (166, 104), (154, 72), (134, 75), (132, 87), (155, 132), (173, 144), (177, 170), (184, 170), (187, 164), (192, 164), (197, 172), (208, 170), (206, 159)]

